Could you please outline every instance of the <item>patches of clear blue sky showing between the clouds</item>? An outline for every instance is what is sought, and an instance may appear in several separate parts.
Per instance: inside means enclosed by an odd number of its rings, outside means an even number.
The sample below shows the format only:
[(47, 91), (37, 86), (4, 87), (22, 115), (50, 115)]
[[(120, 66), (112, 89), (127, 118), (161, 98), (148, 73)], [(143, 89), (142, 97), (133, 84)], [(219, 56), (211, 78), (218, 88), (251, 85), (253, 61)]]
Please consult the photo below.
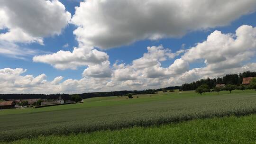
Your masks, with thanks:
[[(93, 0), (89, 0), (89, 2), (90, 1), (93, 1)], [(98, 1), (98, 0), (96, 0), (96, 1)], [(113, 2), (115, 0), (110, 0), (110, 1)], [(55, 65), (55, 63), (42, 62), (43, 60), (39, 60), (39, 62), (33, 61), (33, 57), (37, 56), (37, 55), (54, 54), (54, 53), (57, 53), (60, 50), (72, 52), (74, 47), (81, 48), (82, 47), (81, 45), (84, 46), (85, 45), (84, 42), (88, 41), (88, 39), (87, 39), (88, 37), (86, 37), (85, 35), (83, 37), (83, 40), (77, 40), (76, 37), (79, 36), (79, 35), (74, 34), (74, 31), (76, 29), (78, 29), (78, 27), (85, 27), (85, 25), (81, 26), (80, 22), (78, 22), (78, 20), (77, 20), (79, 18), (82, 18), (81, 16), (79, 16), (79, 15), (82, 15), (82, 14), (76, 12), (76, 10), (75, 10), (75, 7), (78, 7), (79, 9), (83, 9), (82, 6), (80, 7), (80, 1), (79, 0), (59, 0), (58, 2), (60, 2), (61, 4), (64, 5), (64, 7), (65, 7), (64, 12), (69, 12), (71, 14), (73, 22), (66, 23), (65, 26), (61, 29), (61, 31), (57, 32), (58, 34), (51, 34), (51, 35), (47, 35), (47, 36), (41, 36), (41, 35), (39, 36), (38, 35), (39, 37), (41, 37), (43, 39), (44, 45), (40, 45), (37, 42), (31, 42), (31, 41), (30, 42), (24, 42), (24, 41), (10, 42), (12, 44), (18, 45), (18, 47), (21, 48), (23, 51), (27, 50), (27, 49), (37, 50), (37, 54), (22, 56), (23, 59), (19, 59), (17, 57), (13, 57), (13, 55), (2, 53), (2, 54), (0, 54), (0, 69), (5, 69), (5, 68), (10, 68), (12, 70), (14, 70), (16, 68), (22, 68), (23, 70), (26, 69), (27, 72), (20, 73), (20, 76), (33, 75), (33, 77), (37, 77), (38, 75), (44, 73), (46, 75), (46, 78), (44, 78), (44, 80), (46, 80), (46, 81), (53, 81), (58, 76), (63, 77), (63, 79), (61, 80), (62, 82), (67, 80), (67, 79), (73, 79), (73, 80), (78, 80), (79, 81), (81, 79), (87, 78), (89, 80), (89, 79), (91, 79), (91, 77), (93, 77), (93, 76), (90, 76), (89, 74), (87, 74), (87, 75), (83, 74), (82, 75), (84, 70), (86, 68), (88, 68), (88, 64), (82, 64), (82, 65), (76, 66), (76, 69), (71, 69), (71, 68), (64, 68), (63, 69), (63, 68), (54, 67), (53, 65)], [(87, 2), (87, 3), (82, 2), (82, 3), (87, 4), (86, 7), (89, 7), (90, 6), (89, 2)], [(252, 5), (252, 3), (253, 2), (251, 2), (250, 5)], [(6, 5), (8, 5), (8, 4), (6, 4)], [(254, 3), (253, 3), (253, 5), (254, 5)], [(247, 8), (246, 6), (247, 5), (245, 4), (245, 6), (244, 6), (245, 9)], [(102, 9), (105, 9), (104, 7), (106, 7), (106, 6), (103, 5)], [(243, 7), (243, 5), (241, 5), (240, 7)], [(99, 9), (100, 8), (101, 7), (99, 7)], [(97, 51), (103, 52), (103, 53), (105, 53), (109, 56), (107, 61), (110, 62), (110, 69), (112, 69), (110, 71), (112, 73), (114, 73), (114, 71), (116, 69), (113, 68), (114, 67), (113, 64), (116, 61), (118, 61), (119, 64), (120, 63), (125, 63), (124, 65), (126, 67), (129, 67), (129, 66), (133, 67), (133, 61), (142, 58), (143, 54), (148, 52), (148, 50), (147, 50), (148, 46), (151, 47), (151, 46), (162, 45), (164, 49), (170, 49), (171, 53), (175, 53), (176, 51), (179, 51), (181, 49), (189, 51), (191, 49), (191, 47), (196, 47), (198, 43), (202, 43), (202, 42), (206, 41), (207, 37), (209, 35), (211, 35), (211, 33), (214, 32), (215, 30), (221, 31), (222, 34), (228, 35), (228, 33), (235, 34), (238, 27), (241, 27), (242, 25), (248, 25), (248, 26), (256, 27), (256, 12), (252, 12), (252, 11), (255, 11), (255, 8), (256, 8), (255, 6), (252, 7), (251, 10), (248, 11), (248, 12), (245, 11), (245, 10), (241, 10), (241, 12), (235, 11), (237, 13), (236, 16), (229, 16), (229, 14), (227, 14), (227, 18), (230, 19), (230, 20), (227, 20), (226, 22), (223, 22), (223, 23), (222, 22), (219, 22), (219, 23), (216, 22), (217, 24), (215, 24), (214, 22), (213, 22), (214, 24), (207, 23), (205, 25), (209, 25), (209, 26), (205, 27), (203, 25), (199, 28), (193, 28), (193, 27), (186, 26), (186, 27), (189, 27), (189, 28), (186, 28), (184, 31), (181, 32), (181, 35), (178, 34), (177, 36), (168, 36), (168, 35), (173, 35), (173, 33), (169, 32), (169, 33), (165, 34), (165, 32), (160, 30), (161, 31), (160, 33), (165, 35), (165, 36), (154, 39), (154, 40), (150, 40), (151, 38), (149, 38), (149, 37), (144, 37), (144, 38), (137, 37), (137, 38), (135, 38), (135, 40), (132, 40), (132, 41), (127, 40), (128, 44), (126, 42), (124, 42), (122, 45), (113, 44), (113, 45), (117, 45), (117, 46), (112, 46), (112, 47), (106, 46), (106, 48), (104, 47), (104, 45), (101, 45), (100, 46), (101, 48), (98, 48), (99, 46), (97, 44), (96, 45), (90, 45), (90, 46), (93, 46), (93, 49), (96, 49)], [(0, 10), (1, 10), (1, 7), (0, 7)], [(4, 10), (6, 10), (6, 9), (4, 9)], [(6, 10), (5, 12), (8, 13), (8, 10)], [(87, 14), (90, 13), (90, 9), (89, 10), (84, 9), (84, 13), (87, 13)], [(177, 11), (177, 13), (178, 13), (178, 11)], [(73, 18), (74, 14), (77, 15), (77, 19)], [(125, 14), (126, 13), (124, 13), (124, 15)], [(223, 14), (223, 15), (225, 15), (225, 14)], [(96, 17), (96, 16), (94, 16), (94, 17)], [(112, 15), (109, 15), (109, 16), (111, 17)], [(100, 17), (100, 15), (99, 15), (99, 17)], [(234, 17), (234, 18), (231, 18), (231, 17)], [(104, 18), (105, 18), (105, 16), (104, 16)], [(209, 18), (209, 19), (211, 20), (211, 18)], [(87, 20), (86, 18), (81, 20), (82, 25), (84, 23), (87, 24), (86, 20)], [(93, 19), (93, 17), (92, 17), (92, 20), (95, 20), (95, 19)], [(152, 20), (154, 20), (154, 19), (152, 19)], [(163, 18), (162, 20), (165, 20), (165, 18)], [(95, 22), (95, 21), (92, 21), (92, 22)], [(165, 21), (163, 21), (163, 22), (165, 22)], [(77, 24), (77, 23), (79, 23), (79, 24)], [(115, 22), (113, 22), (113, 23), (115, 23)], [(195, 23), (195, 22), (192, 22), (192, 24), (193, 23)], [(172, 27), (171, 24), (170, 24), (170, 27)], [(8, 29), (9, 30), (14, 29), (13, 26), (8, 26), (8, 23), (6, 23), (4, 25), (6, 25), (7, 28), (6, 27), (1, 28), (1, 25), (0, 25), (0, 29), (1, 29), (0, 34), (7, 33)], [(108, 24), (104, 24), (104, 23), (102, 24), (102, 26), (105, 26), (105, 25), (106, 25), (106, 27), (108, 26)], [(119, 27), (119, 25), (117, 25), (117, 27)], [(132, 27), (130, 27), (130, 28), (132, 28)], [(167, 28), (169, 28), (169, 27), (167, 27)], [(86, 32), (86, 29), (85, 29), (85, 32)], [(158, 32), (157, 32), (157, 34), (158, 34)], [(112, 35), (115, 35), (115, 33), (113, 33)], [(32, 36), (32, 34), (31, 34), (31, 36)], [(35, 36), (34, 34), (33, 34), (33, 36), (38, 37), (38, 36)], [(106, 34), (106, 36), (108, 36), (108, 35)], [(95, 35), (95, 37), (97, 37), (97, 36)], [(103, 37), (103, 38), (105, 38), (105, 37)], [(105, 39), (107, 39), (107, 38), (105, 38)], [(236, 39), (236, 38), (234, 38), (234, 39)], [(93, 40), (91, 42), (93, 44), (97, 43), (97, 41), (93, 41)], [(66, 44), (68, 44), (68, 46), (64, 47), (64, 45), (66, 45)], [(85, 45), (85, 46), (88, 46), (88, 45)], [(8, 47), (4, 47), (4, 48), (8, 49)], [(250, 46), (250, 49), (255, 49), (255, 47)], [(183, 52), (182, 54), (176, 55), (174, 58), (167, 58), (164, 61), (160, 60), (160, 58), (157, 58), (157, 62), (161, 63), (160, 69), (168, 68), (169, 66), (171, 66), (174, 63), (175, 60), (182, 59), (182, 56), (183, 56), (184, 53), (186, 53), (186, 52)], [(254, 53), (254, 51), (252, 53)], [(165, 55), (165, 56), (167, 56), (167, 55)], [(145, 60), (145, 59), (142, 59), (142, 60)], [(181, 74), (184, 74), (184, 73), (186, 73), (190, 70), (193, 70), (195, 68), (205, 68), (205, 67), (207, 67), (209, 65), (209, 63), (204, 63), (205, 60), (207, 60), (207, 58), (204, 58), (203, 56), (201, 58), (197, 58), (197, 59), (191, 60), (191, 61), (186, 60), (187, 63), (189, 63), (189, 69), (185, 70), (184, 72), (180, 73), (180, 75), (177, 75), (177, 76), (181, 76)], [(61, 62), (61, 63), (64, 63), (64, 62)], [(250, 59), (241, 61), (239, 63), (244, 64), (244, 65), (246, 65), (248, 63), (250, 63), (250, 64), (251, 63), (256, 63), (256, 57), (255, 57), (255, 55), (252, 54), (252, 55), (250, 55)], [(89, 65), (92, 66), (92, 64), (89, 64)], [(97, 63), (96, 63), (96, 65), (97, 65)], [(243, 65), (240, 65), (240, 66), (243, 66)], [(252, 70), (254, 70), (254, 69), (252, 69)], [(135, 68), (134, 71), (137, 72), (138, 70)], [(89, 69), (88, 69), (88, 72), (89, 72)], [(92, 72), (94, 72), (94, 71), (92, 71)], [(221, 76), (225, 72), (234, 72), (234, 71), (230, 69), (229, 71), (227, 70), (227, 71), (219, 72), (218, 74), (216, 74), (216, 76)], [(143, 72), (141, 72), (141, 73), (143, 73)], [(174, 72), (174, 73), (176, 73), (176, 72)], [(129, 75), (130, 73), (124, 73), (124, 74)], [(130, 75), (132, 75), (132, 74), (130, 74)], [(142, 74), (142, 76), (144, 76), (144, 75)], [(200, 76), (198, 75), (198, 78), (203, 78), (205, 76), (209, 76), (209, 75), (200, 75)], [(95, 78), (95, 79), (93, 79), (93, 81), (96, 81), (96, 80), (98, 80), (97, 78), (99, 78), (99, 77), (93, 77), (93, 78)], [(108, 77), (108, 78), (110, 78), (110, 77)], [(143, 78), (141, 78), (141, 79), (143, 79)], [(169, 79), (171, 81), (170, 76), (159, 78), (159, 80), (160, 79), (161, 80), (162, 79)], [(159, 80), (154, 79), (154, 81), (159, 81)], [(189, 80), (190, 79), (188, 79), (188, 81)], [(111, 81), (116, 81), (116, 79), (114, 78), (114, 76), (112, 74), (110, 79), (108, 79), (108, 80), (104, 79), (104, 81), (106, 81), (106, 83), (104, 83), (104, 84), (107, 84)], [(143, 80), (139, 81), (138, 79), (137, 80), (127, 79), (127, 80), (122, 81), (122, 82), (124, 83), (126, 81), (133, 84), (133, 83), (136, 83), (136, 82), (140, 83)], [(153, 79), (152, 79), (152, 81), (153, 81)], [(184, 82), (184, 81), (180, 81), (180, 83), (182, 83), (182, 82)], [(141, 83), (143, 83), (143, 82), (141, 82)], [(174, 82), (173, 85), (178, 84), (178, 83), (179, 82)], [(172, 85), (170, 82), (168, 84)], [(163, 84), (160, 84), (159, 86), (157, 85), (155, 87), (161, 87), (162, 85)], [(169, 86), (169, 85), (166, 85), (166, 86)], [(150, 87), (150, 86), (148, 86), (148, 87)], [(131, 87), (129, 87), (129, 86), (122, 87), (122, 89), (134, 89), (134, 88), (136, 88), (136, 86), (133, 87), (131, 85)], [(10, 90), (13, 90), (13, 89), (11, 88)], [(102, 90), (103, 91), (104, 90), (112, 90), (112, 88), (99, 89), (99, 91), (102, 91)], [(66, 92), (66, 90), (63, 90), (63, 91)], [(89, 90), (89, 91), (91, 91), (91, 90)]]

